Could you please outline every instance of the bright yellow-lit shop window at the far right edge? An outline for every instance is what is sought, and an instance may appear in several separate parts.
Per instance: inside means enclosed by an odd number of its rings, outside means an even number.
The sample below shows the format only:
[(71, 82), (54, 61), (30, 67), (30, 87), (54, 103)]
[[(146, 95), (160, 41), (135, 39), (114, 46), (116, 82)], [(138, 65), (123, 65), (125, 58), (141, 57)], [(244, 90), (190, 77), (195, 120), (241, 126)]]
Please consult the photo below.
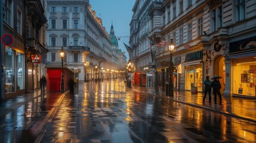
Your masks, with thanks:
[(256, 58), (238, 58), (233, 63), (233, 94), (255, 96)]

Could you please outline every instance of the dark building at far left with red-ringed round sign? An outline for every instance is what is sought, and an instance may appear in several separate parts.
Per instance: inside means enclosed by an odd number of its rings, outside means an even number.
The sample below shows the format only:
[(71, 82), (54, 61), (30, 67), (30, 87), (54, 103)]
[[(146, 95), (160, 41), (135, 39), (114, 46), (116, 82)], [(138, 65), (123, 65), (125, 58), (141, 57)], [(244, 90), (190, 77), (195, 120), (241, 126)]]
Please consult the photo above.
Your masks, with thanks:
[[(1, 100), (39, 88), (48, 52), (45, 6), (44, 1), (1, 1)], [(39, 58), (32, 60), (33, 55)]]

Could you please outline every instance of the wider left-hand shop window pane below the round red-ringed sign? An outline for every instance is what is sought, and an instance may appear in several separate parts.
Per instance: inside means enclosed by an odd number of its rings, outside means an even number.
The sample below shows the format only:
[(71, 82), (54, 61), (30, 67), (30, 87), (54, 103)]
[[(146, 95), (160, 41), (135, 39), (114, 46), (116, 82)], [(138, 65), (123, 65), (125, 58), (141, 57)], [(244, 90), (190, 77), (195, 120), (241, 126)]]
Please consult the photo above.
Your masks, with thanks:
[(15, 92), (15, 52), (5, 49), (5, 92)]

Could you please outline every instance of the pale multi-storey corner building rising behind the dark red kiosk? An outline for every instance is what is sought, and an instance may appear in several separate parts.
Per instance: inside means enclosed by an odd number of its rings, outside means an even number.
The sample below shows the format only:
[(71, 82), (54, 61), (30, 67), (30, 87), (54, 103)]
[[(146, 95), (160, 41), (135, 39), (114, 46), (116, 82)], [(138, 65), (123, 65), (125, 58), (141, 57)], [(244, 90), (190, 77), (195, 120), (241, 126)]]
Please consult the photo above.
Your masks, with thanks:
[[(61, 47), (65, 51), (64, 67), (75, 71), (75, 80), (110, 79), (118, 70), (118, 43), (113, 42), (101, 18), (91, 9), (89, 1), (47, 1), (49, 21), (48, 67), (60, 67)], [(97, 68), (96, 68), (97, 67)]]

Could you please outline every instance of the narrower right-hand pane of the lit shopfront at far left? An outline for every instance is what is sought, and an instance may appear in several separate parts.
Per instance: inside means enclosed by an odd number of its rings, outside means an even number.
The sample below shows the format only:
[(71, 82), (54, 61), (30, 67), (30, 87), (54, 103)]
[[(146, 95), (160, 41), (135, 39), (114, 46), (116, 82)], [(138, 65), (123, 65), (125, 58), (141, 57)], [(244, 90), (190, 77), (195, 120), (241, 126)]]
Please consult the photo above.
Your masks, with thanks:
[(17, 56), (17, 90), (24, 89), (24, 55), (18, 52)]

